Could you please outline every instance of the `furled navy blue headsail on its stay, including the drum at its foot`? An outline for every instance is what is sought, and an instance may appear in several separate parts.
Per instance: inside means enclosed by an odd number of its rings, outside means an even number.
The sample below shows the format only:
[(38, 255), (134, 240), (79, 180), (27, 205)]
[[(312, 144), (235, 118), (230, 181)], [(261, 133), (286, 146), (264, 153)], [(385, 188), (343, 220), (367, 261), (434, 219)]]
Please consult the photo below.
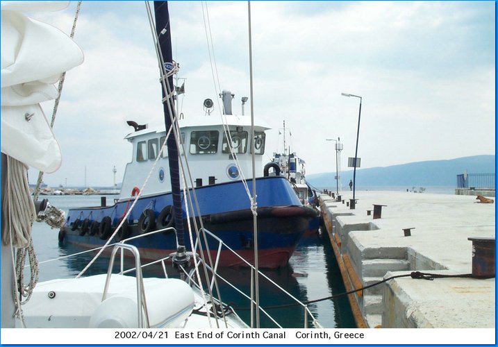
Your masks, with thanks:
[[(169, 26), (169, 11), (167, 1), (154, 1), (154, 14), (156, 17), (156, 35), (158, 58), (160, 60), (160, 74), (163, 93), (163, 111), (165, 115), (166, 131), (174, 126), (177, 121), (174, 117), (174, 85), (173, 75), (176, 65), (173, 62), (171, 30)], [(173, 129), (175, 129), (174, 127)], [(176, 226), (176, 255), (173, 262), (176, 266), (187, 264), (190, 257), (185, 252), (185, 235), (183, 231), (183, 210), (181, 208), (181, 189), (179, 171), (179, 151), (175, 137), (178, 133), (174, 130), (174, 136), (167, 139), (167, 151), (169, 162), (169, 176), (172, 185), (174, 222)]]

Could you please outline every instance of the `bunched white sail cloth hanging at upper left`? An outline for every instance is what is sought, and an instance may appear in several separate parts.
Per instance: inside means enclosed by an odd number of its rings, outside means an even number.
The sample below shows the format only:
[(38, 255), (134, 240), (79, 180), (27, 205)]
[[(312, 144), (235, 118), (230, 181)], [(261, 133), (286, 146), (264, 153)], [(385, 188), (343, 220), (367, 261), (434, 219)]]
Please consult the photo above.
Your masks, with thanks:
[[(56, 99), (53, 83), (83, 62), (58, 28), (23, 11), (61, 10), (68, 1), (1, 1), (1, 152), (40, 171), (56, 171), (60, 147), (40, 107)], [(68, 24), (69, 25), (69, 24)]]

